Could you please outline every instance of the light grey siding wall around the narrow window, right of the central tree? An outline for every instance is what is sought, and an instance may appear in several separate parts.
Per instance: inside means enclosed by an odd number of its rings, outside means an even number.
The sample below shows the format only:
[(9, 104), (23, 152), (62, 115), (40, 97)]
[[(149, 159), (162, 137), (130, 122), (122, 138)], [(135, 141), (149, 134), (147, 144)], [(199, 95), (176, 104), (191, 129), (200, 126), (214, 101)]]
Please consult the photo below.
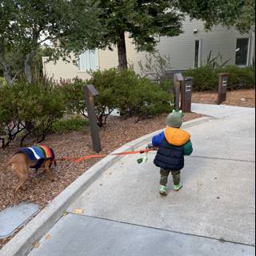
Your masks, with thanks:
[[(198, 33), (194, 34), (194, 30)], [(222, 55), (223, 61), (230, 59), (229, 64), (235, 63), (235, 50), (237, 38), (250, 38), (250, 34), (239, 34), (233, 28), (227, 29), (223, 26), (214, 26), (212, 30), (205, 31), (204, 24), (198, 20), (190, 21), (186, 18), (183, 23), (183, 34), (174, 38), (161, 38), (158, 45), (159, 52), (170, 55), (173, 69), (188, 69), (194, 67), (194, 42), (201, 41), (201, 60), (202, 63), (213, 52), (217, 56), (218, 52)]]

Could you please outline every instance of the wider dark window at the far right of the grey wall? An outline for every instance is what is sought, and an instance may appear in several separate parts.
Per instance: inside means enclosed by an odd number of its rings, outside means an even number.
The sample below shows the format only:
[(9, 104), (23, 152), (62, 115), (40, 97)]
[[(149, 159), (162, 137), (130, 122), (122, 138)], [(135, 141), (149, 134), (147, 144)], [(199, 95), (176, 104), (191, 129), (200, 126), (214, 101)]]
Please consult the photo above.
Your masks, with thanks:
[(235, 65), (247, 66), (249, 53), (249, 38), (238, 38), (235, 54)]

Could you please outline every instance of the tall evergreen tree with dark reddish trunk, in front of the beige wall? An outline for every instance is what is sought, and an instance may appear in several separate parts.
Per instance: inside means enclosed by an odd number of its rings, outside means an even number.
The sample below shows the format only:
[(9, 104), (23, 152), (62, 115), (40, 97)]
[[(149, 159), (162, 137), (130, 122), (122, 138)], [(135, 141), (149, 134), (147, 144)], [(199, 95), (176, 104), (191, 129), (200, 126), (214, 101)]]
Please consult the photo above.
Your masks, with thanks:
[(102, 44), (118, 47), (119, 69), (127, 68), (126, 38), (128, 32), (137, 50), (154, 51), (158, 35), (175, 36), (182, 32), (183, 15), (175, 9), (174, 0), (101, 0)]

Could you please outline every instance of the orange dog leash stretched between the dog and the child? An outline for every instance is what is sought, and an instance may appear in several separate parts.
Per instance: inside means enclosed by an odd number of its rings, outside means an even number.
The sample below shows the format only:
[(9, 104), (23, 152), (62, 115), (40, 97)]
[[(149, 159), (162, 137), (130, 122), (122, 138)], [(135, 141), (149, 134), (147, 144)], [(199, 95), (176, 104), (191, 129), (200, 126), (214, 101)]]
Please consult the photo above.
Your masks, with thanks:
[(90, 154), (84, 157), (63, 157), (63, 158), (56, 159), (56, 161), (72, 161), (74, 163), (78, 163), (78, 162), (82, 162), (92, 158), (104, 158), (108, 155), (144, 154), (144, 153), (149, 153), (150, 151), (153, 151), (153, 150), (155, 149), (153, 148), (153, 149), (145, 149), (145, 150), (138, 150), (138, 151), (125, 151), (125, 152), (120, 152), (115, 154)]

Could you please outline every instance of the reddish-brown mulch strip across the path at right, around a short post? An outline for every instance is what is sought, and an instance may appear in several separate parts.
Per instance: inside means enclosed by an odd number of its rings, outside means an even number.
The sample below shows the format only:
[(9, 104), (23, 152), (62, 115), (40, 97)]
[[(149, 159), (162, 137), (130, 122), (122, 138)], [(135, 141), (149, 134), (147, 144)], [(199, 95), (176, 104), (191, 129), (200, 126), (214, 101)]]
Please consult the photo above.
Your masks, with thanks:
[[(218, 93), (212, 91), (192, 94), (192, 102), (204, 104), (217, 104)], [(226, 102), (222, 104), (231, 106), (255, 107), (255, 90), (234, 90), (226, 93)]]

